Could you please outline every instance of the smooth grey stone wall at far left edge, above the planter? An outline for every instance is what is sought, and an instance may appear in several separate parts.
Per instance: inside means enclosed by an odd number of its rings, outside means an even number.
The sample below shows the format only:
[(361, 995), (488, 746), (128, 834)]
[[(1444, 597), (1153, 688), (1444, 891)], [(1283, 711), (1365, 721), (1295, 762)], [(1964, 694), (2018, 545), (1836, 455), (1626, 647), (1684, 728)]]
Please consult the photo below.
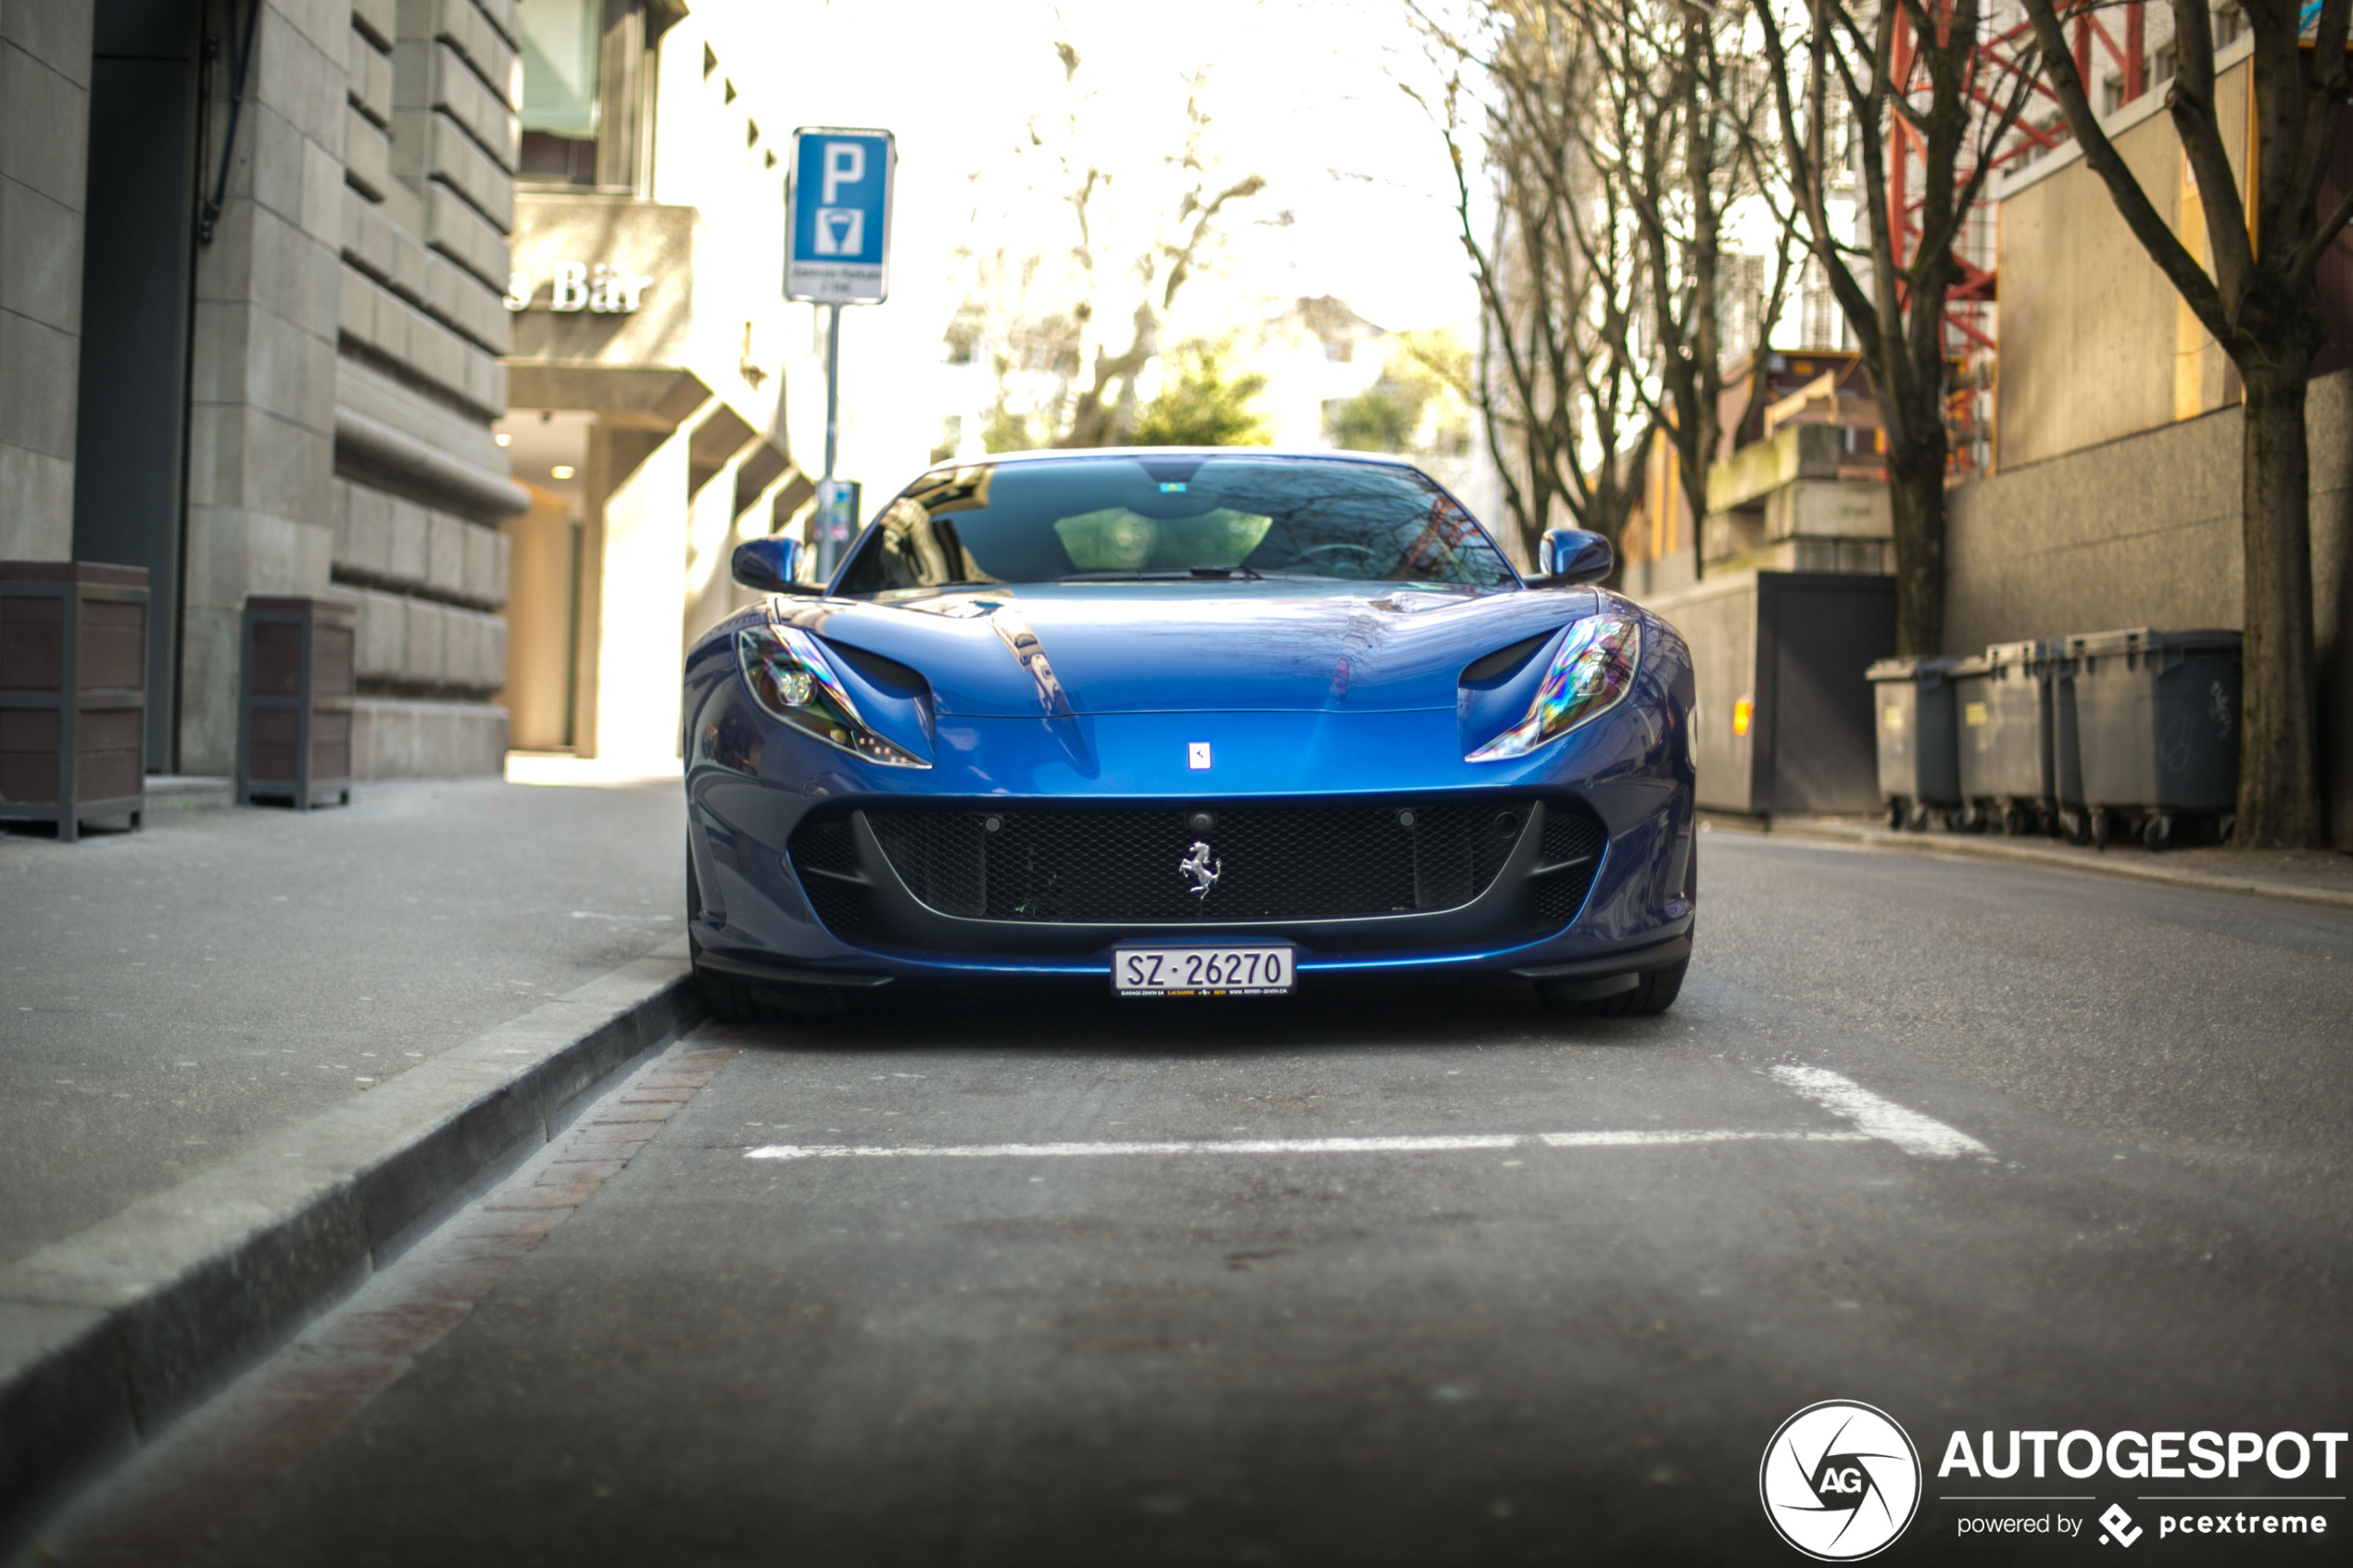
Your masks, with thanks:
[(0, 5), (0, 559), (73, 557), (89, 19)]

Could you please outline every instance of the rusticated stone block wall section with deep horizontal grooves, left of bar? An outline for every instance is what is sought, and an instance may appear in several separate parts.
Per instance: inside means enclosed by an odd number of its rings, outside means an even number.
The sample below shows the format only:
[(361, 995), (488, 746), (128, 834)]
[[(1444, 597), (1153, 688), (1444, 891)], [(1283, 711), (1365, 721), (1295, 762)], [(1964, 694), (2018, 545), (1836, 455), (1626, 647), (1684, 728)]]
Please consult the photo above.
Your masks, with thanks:
[(341, 38), (329, 571), (360, 602), (362, 778), (506, 766), (513, 0), (353, 0)]

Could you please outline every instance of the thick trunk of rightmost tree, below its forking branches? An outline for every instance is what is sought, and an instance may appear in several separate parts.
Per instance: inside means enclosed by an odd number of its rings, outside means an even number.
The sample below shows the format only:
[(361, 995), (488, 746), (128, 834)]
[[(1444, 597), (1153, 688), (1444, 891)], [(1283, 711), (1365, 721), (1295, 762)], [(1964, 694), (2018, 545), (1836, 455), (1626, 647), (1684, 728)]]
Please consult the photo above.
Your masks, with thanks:
[(2240, 529), (2245, 726), (2238, 844), (2320, 844), (2320, 705), (2313, 677), (2313, 487), (2304, 430), (2308, 357), (2245, 374)]

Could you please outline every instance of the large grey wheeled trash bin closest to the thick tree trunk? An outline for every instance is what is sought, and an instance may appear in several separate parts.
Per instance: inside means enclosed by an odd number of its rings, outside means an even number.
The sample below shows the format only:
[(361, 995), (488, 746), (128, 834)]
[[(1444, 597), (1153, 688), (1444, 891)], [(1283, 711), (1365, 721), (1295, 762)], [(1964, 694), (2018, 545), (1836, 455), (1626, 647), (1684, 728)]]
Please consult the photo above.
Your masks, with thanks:
[(2092, 842), (2219, 844), (2238, 811), (2240, 635), (2087, 632), (2066, 639)]

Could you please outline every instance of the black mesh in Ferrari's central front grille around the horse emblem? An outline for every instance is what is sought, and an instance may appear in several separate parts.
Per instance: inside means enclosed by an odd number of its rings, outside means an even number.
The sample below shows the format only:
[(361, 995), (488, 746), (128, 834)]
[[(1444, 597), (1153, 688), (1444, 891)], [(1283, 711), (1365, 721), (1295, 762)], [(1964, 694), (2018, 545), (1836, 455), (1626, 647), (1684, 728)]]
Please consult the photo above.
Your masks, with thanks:
[[(1186, 825), (1184, 806), (871, 811), (868, 820), (892, 870), (941, 914), (1087, 924), (1452, 910), (1494, 882), (1527, 825), (1527, 802), (1214, 813), (1205, 835)], [(1219, 870), (1202, 898), (1179, 872), (1195, 839)]]

